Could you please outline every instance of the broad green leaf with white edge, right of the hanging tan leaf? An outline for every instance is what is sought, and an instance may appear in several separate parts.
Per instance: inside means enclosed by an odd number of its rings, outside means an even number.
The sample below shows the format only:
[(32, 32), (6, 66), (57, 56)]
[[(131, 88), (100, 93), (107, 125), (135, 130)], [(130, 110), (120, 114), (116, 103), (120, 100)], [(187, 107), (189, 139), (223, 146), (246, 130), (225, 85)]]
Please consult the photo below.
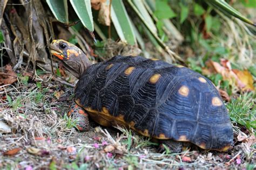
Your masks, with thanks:
[(118, 36), (122, 41), (126, 41), (130, 45), (136, 45), (131, 20), (125, 10), (122, 0), (112, 1), (111, 4), (111, 19)]

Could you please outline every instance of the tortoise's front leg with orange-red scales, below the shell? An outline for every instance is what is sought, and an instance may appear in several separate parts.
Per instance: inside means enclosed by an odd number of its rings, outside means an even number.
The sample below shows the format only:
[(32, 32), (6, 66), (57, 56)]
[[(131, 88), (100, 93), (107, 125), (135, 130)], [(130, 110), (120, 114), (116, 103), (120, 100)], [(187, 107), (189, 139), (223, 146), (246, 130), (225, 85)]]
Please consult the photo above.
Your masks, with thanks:
[(68, 116), (75, 122), (79, 131), (88, 131), (90, 128), (88, 114), (82, 107), (79, 107), (75, 102), (70, 105)]

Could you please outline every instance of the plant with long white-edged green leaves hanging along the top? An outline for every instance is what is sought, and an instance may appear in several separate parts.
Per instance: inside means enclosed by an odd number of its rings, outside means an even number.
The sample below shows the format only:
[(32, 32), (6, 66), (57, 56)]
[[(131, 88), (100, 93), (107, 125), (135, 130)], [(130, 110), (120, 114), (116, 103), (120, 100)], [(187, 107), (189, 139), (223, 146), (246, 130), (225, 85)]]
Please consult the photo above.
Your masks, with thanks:
[[(68, 17), (68, 1), (46, 1), (50, 6), (53, 15), (59, 22), (69, 23)], [(255, 25), (253, 22), (242, 16), (237, 10), (232, 8), (228, 3), (223, 0), (207, 0), (208, 5), (211, 5), (213, 9), (222, 11), (225, 15), (233, 16), (248, 24)], [(119, 39), (129, 45), (138, 45), (140, 48), (144, 48), (145, 42), (138, 33), (138, 24), (134, 24), (131, 18), (136, 16), (139, 18), (140, 26), (143, 27), (145, 33), (157, 47), (159, 52), (165, 52), (171, 56), (171, 60), (181, 60), (176, 53), (174, 53), (168, 45), (166, 45), (166, 39), (173, 38), (177, 42), (183, 41), (183, 36), (179, 33), (176, 27), (172, 24), (170, 18), (176, 17), (177, 14), (172, 10), (170, 4), (172, 1), (167, 0), (106, 0), (106, 1), (75, 1), (70, 0), (73, 10), (76, 12), (78, 18), (84, 25), (84, 27), (90, 32), (96, 31), (101, 39), (105, 39), (107, 35), (103, 34), (98, 20), (103, 18), (103, 22), (107, 26), (110, 26), (110, 20), (113, 23)], [(179, 3), (180, 23), (184, 22), (188, 15), (188, 6), (183, 3)], [(197, 4), (201, 14), (203, 15), (204, 9)], [(93, 18), (93, 9), (100, 9), (98, 17)], [(64, 9), (64, 10), (63, 10)], [(129, 12), (127, 12), (129, 11)], [(200, 11), (199, 11), (200, 13)], [(101, 15), (100, 15), (101, 14)], [(105, 15), (105, 18), (102, 17)], [(107, 23), (107, 24), (106, 24)], [(96, 28), (96, 29), (95, 29)], [(168, 60), (169, 58), (165, 58)], [(170, 60), (170, 59), (169, 59)], [(172, 62), (172, 61), (170, 61)]]

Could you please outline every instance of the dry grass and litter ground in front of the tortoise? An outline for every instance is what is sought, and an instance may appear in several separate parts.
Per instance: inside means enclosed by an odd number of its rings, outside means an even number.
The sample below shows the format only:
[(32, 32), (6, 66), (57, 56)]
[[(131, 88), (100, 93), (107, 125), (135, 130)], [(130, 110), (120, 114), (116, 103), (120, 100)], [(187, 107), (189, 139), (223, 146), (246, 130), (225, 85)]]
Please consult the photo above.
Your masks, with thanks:
[[(237, 143), (228, 153), (196, 148), (160, 154), (150, 139), (120, 127), (104, 129), (91, 121), (89, 132), (78, 132), (65, 115), (73, 89), (56, 81), (43, 81), (41, 87), (17, 82), (0, 88), (0, 120), (12, 130), (0, 134), (1, 169), (252, 168), (255, 164), (255, 146), (246, 143)], [(59, 99), (58, 91), (64, 91)], [(238, 127), (234, 130), (240, 132)], [(4, 155), (13, 148), (21, 150)]]

